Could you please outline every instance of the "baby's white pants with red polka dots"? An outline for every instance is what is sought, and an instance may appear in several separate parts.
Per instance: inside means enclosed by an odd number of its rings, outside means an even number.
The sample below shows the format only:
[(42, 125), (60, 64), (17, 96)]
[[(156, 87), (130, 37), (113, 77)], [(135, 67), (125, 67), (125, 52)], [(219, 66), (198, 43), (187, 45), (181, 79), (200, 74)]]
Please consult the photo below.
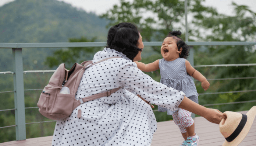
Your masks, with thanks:
[(191, 112), (181, 108), (172, 114), (173, 121), (180, 128), (181, 133), (186, 133), (187, 131), (185, 127), (193, 125), (194, 120), (191, 117), (191, 114)]

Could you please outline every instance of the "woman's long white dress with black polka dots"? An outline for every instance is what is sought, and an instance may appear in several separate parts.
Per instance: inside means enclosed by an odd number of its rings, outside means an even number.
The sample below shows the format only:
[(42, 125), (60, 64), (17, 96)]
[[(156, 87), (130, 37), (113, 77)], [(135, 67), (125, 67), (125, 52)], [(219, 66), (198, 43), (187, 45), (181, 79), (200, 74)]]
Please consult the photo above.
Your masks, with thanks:
[[(105, 48), (94, 55), (95, 64), (84, 71), (76, 99), (124, 87), (111, 96), (85, 102), (63, 120), (57, 120), (52, 146), (149, 146), (157, 122), (151, 107), (132, 91), (151, 103), (178, 109), (185, 94), (169, 88), (137, 68), (126, 55)], [(82, 116), (77, 117), (78, 110)]]

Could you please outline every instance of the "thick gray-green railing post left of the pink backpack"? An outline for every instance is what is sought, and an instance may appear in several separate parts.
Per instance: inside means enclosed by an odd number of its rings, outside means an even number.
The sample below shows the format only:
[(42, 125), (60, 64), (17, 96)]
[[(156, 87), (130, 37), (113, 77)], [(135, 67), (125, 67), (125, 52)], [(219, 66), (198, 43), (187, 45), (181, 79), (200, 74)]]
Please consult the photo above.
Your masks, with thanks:
[(26, 139), (22, 48), (12, 48), (16, 140)]

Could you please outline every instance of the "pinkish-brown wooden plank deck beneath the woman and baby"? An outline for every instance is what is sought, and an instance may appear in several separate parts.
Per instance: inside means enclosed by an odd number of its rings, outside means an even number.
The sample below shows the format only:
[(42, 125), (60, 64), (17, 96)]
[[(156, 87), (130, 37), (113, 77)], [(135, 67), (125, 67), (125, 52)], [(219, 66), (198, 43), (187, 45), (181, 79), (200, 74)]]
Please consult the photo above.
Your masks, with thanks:
[[(243, 111), (240, 113), (247, 113)], [(225, 138), (219, 132), (219, 125), (205, 120), (203, 117), (194, 118), (195, 131), (200, 137), (200, 146), (222, 146)], [(158, 122), (157, 131), (153, 136), (151, 146), (179, 146), (183, 141), (179, 128), (173, 121)], [(23, 141), (9, 141), (0, 146), (51, 146), (52, 136), (29, 138)], [(256, 146), (256, 119), (251, 130), (239, 146)]]

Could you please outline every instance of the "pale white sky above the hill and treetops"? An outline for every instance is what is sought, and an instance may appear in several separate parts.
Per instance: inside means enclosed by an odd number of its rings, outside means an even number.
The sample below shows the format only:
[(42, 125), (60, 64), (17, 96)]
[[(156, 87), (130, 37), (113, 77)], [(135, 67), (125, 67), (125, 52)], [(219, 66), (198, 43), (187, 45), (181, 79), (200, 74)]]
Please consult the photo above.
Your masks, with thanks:
[[(0, 6), (14, 0), (0, 0)], [(114, 4), (119, 4), (119, 0), (58, 0), (69, 3), (75, 7), (82, 8), (87, 12), (95, 12), (97, 15), (111, 9)], [(126, 0), (132, 2), (133, 0)], [(232, 15), (231, 3), (236, 2), (238, 5), (247, 5), (256, 12), (256, 0), (205, 0), (203, 4), (217, 8), (219, 13)]]

